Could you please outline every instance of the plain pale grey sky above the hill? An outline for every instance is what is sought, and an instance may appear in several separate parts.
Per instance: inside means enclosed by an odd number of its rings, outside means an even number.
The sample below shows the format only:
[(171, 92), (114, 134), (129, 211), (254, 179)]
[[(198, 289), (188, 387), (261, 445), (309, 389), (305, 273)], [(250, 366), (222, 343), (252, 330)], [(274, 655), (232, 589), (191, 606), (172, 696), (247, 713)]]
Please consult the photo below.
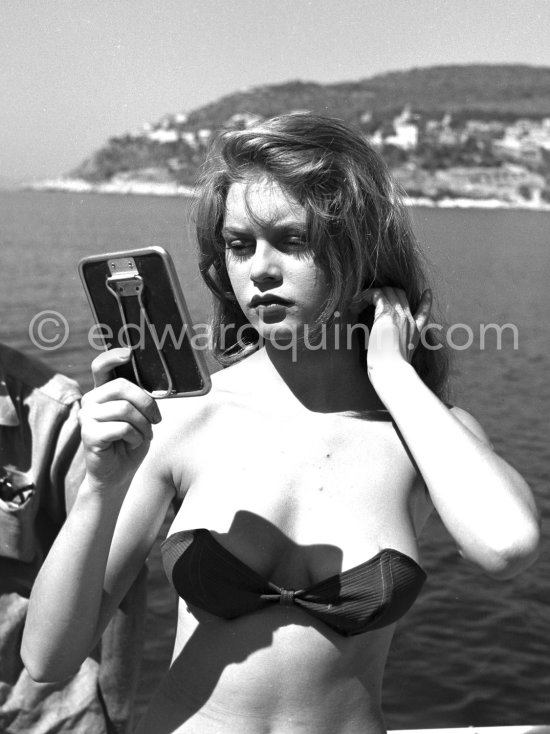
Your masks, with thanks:
[(550, 0), (1, 0), (0, 183), (238, 89), (550, 66)]

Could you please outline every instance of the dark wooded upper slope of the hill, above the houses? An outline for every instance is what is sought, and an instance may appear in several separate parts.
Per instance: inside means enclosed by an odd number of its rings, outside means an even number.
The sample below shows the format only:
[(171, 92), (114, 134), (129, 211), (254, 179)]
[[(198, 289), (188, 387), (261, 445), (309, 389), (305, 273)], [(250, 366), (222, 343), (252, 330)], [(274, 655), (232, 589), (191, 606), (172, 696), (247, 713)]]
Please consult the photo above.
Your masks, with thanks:
[(269, 117), (294, 109), (361, 123), (391, 119), (404, 107), (438, 117), (500, 120), (550, 115), (550, 68), (532, 66), (434, 66), (396, 71), (338, 84), (289, 82), (230, 94), (191, 112), (188, 125), (220, 127), (236, 112)]

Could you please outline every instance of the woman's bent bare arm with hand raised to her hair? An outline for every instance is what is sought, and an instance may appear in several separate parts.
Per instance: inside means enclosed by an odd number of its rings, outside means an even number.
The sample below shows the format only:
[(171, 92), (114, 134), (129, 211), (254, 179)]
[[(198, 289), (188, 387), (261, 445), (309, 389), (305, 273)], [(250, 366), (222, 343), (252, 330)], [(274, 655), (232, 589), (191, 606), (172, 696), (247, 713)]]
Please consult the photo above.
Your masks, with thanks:
[(497, 578), (519, 573), (535, 560), (540, 538), (531, 490), (493, 451), (477, 421), (466, 411), (449, 409), (408, 361), (429, 316), (429, 297), (414, 319), (404, 294), (396, 289), (377, 289), (372, 303), (376, 313), (369, 377), (399, 427), (437, 512), (466, 559)]

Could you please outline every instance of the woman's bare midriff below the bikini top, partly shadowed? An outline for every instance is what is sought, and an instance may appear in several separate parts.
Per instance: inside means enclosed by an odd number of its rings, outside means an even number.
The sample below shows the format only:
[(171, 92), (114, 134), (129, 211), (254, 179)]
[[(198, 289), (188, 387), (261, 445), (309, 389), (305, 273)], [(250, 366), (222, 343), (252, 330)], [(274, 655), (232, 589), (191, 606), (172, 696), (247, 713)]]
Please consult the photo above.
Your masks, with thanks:
[(282, 607), (220, 620), (180, 602), (173, 662), (136, 734), (382, 734), (392, 633), (343, 637)]

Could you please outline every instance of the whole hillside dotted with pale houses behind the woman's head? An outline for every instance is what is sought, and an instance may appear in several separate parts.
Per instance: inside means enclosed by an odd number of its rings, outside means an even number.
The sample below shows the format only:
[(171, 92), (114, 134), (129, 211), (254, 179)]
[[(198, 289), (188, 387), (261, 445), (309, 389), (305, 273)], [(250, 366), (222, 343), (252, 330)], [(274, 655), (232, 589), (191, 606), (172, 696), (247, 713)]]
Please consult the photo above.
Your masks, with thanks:
[(67, 178), (108, 190), (192, 186), (213, 134), (292, 110), (358, 125), (412, 196), (550, 202), (550, 68), (520, 65), (437, 66), (238, 91), (111, 138)]

